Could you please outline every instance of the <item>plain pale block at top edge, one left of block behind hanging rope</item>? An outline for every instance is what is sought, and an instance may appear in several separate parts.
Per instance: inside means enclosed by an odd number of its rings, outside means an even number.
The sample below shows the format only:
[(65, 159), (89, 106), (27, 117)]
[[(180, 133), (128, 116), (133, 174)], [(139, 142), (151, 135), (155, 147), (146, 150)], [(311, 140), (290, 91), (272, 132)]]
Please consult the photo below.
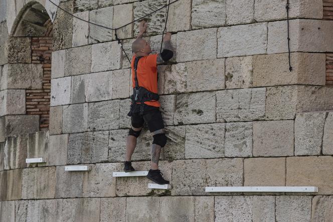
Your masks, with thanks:
[(227, 25), (238, 25), (254, 22), (254, 0), (227, 0)]

